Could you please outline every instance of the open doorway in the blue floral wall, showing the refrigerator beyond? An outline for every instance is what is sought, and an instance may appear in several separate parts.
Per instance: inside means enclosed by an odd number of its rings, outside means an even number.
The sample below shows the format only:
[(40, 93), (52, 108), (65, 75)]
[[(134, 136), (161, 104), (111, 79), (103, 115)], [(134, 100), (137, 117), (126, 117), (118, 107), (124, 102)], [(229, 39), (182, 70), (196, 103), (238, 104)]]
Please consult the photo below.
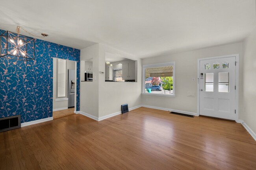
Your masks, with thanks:
[(76, 62), (53, 58), (53, 118), (74, 115)]

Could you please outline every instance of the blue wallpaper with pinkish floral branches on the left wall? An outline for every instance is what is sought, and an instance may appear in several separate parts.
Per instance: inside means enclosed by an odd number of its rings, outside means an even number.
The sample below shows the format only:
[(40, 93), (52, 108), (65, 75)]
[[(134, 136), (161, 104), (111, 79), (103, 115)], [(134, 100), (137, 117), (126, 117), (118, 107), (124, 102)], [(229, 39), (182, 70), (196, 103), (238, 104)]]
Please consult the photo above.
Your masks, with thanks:
[(20, 115), (21, 123), (52, 117), (52, 57), (77, 62), (76, 111), (80, 110), (80, 50), (36, 39), (35, 60), (0, 58), (0, 117)]

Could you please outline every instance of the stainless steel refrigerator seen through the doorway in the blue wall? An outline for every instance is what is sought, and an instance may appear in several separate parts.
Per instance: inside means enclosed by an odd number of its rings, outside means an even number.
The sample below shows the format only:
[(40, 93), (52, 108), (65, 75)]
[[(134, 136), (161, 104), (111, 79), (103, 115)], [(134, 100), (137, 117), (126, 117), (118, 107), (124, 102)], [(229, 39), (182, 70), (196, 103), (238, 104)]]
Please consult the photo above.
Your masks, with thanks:
[(69, 77), (68, 77), (68, 98), (69, 98), (69, 108), (75, 106), (75, 88), (76, 88), (76, 78), (75, 78), (75, 70), (69, 69)]

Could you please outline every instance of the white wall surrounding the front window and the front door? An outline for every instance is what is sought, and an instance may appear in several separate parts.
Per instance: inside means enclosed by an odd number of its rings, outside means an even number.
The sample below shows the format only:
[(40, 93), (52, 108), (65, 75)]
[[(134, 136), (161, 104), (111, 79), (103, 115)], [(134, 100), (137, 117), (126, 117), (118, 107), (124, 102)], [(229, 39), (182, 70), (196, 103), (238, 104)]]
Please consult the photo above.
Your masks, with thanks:
[[(197, 59), (221, 55), (239, 54), (239, 88), (243, 89), (243, 43), (228, 44), (190, 52), (164, 55), (142, 60), (143, 65), (175, 61), (175, 95), (176, 97), (142, 95), (141, 103), (155, 107), (197, 113)], [(196, 81), (192, 81), (195, 78)], [(187, 97), (187, 92), (195, 92), (195, 97)], [(242, 90), (239, 91), (242, 95)], [(148, 102), (146, 101), (148, 99)], [(239, 102), (242, 99), (240, 98)], [(243, 105), (239, 107), (239, 118), (243, 118)]]

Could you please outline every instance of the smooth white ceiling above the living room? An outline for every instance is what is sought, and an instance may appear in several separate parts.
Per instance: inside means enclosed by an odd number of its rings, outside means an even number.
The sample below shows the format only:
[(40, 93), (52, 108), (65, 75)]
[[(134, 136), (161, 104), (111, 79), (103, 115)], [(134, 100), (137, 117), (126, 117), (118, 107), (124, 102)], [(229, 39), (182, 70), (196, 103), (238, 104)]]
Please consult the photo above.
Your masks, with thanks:
[(255, 0), (2, 0), (0, 29), (17, 25), (46, 41), (145, 58), (241, 42), (256, 26)]

